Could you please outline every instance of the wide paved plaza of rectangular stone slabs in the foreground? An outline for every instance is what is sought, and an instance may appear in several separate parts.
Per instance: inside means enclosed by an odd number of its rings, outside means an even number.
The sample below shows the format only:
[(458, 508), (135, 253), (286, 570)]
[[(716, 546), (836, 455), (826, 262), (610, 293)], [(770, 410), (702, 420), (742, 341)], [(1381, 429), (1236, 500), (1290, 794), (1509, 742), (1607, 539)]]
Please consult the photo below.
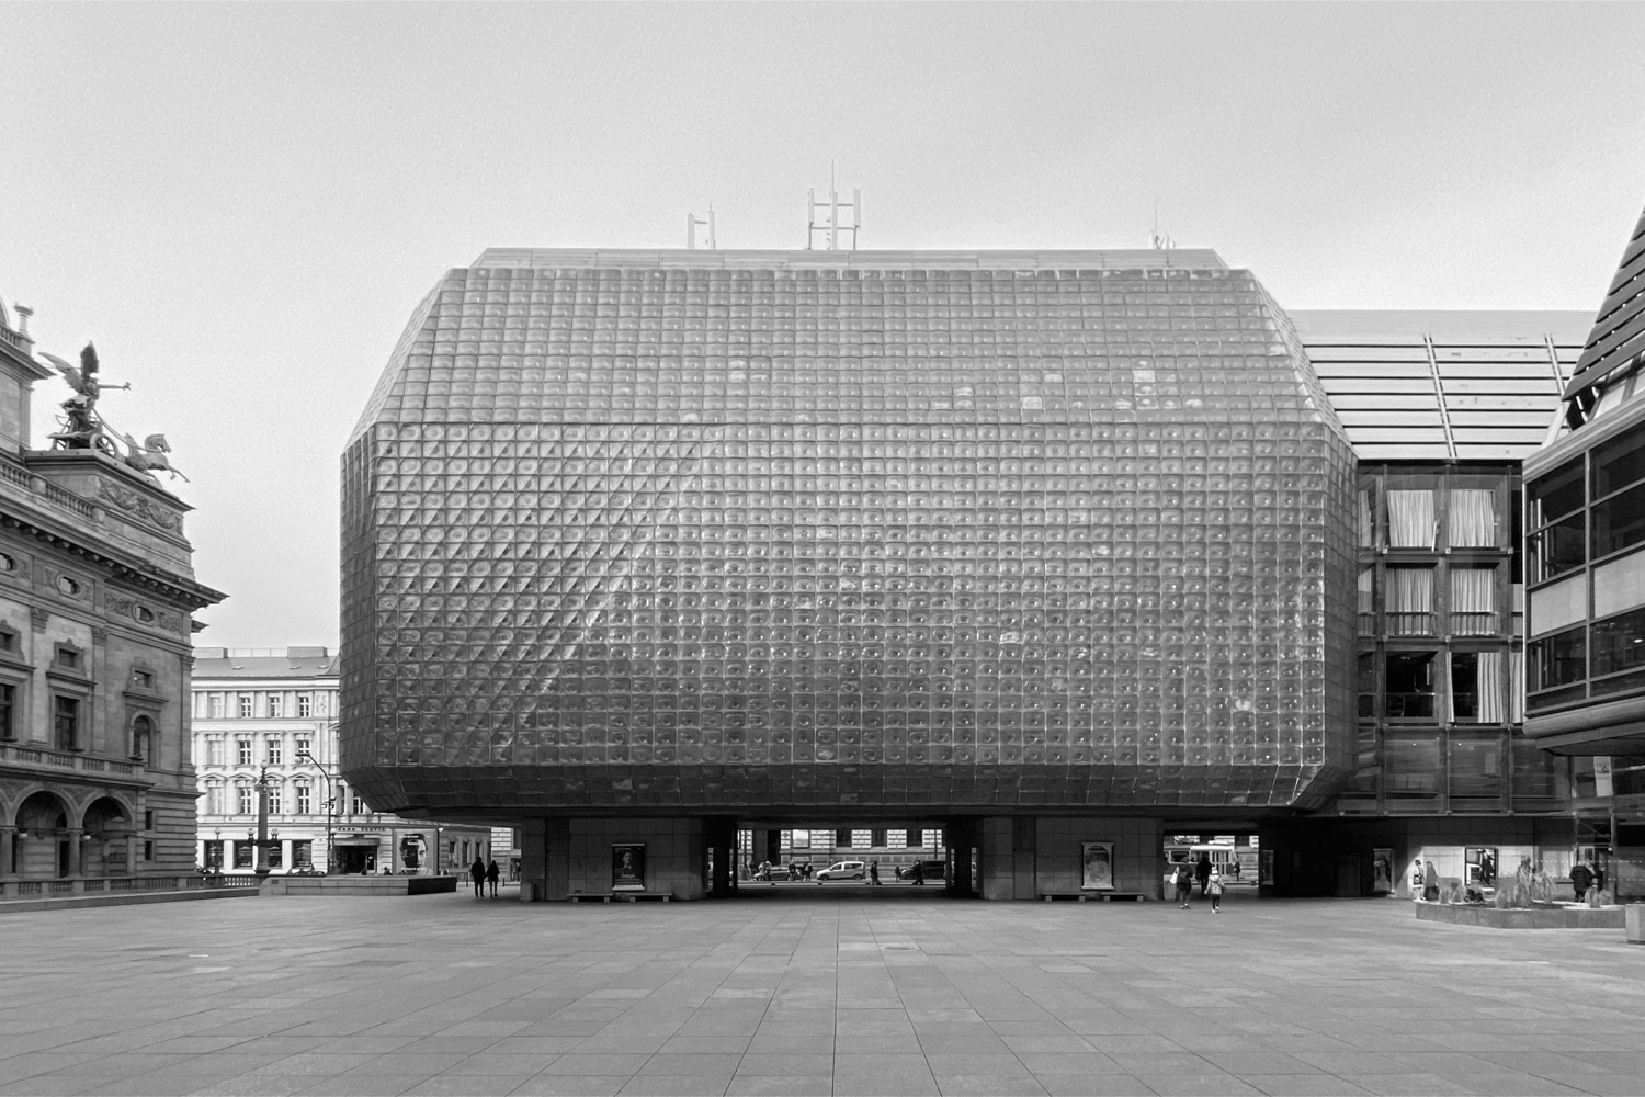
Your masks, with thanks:
[(1393, 900), (0, 914), (0, 1094), (1638, 1094), (1645, 947)]

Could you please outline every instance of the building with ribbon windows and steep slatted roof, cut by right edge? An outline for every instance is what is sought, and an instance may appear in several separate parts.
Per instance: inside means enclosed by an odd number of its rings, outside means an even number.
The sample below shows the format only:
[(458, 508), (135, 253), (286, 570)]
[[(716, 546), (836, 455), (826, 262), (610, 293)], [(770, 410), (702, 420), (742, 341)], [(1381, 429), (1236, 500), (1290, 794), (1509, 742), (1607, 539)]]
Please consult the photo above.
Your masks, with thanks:
[(1645, 215), (1558, 429), (1525, 462), (1527, 734), (1569, 757), (1578, 845), (1645, 896)]

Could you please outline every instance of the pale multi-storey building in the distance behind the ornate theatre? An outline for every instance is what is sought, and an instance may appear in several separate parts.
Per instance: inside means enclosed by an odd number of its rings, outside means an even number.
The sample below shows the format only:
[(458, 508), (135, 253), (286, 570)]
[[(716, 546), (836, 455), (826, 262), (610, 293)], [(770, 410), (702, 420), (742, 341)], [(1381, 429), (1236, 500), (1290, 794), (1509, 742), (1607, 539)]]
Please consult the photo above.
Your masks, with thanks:
[(492, 857), (489, 829), (373, 811), (339, 776), (336, 651), (196, 648), (192, 692), (206, 872), (253, 872), (258, 781), (273, 873), (461, 873)]

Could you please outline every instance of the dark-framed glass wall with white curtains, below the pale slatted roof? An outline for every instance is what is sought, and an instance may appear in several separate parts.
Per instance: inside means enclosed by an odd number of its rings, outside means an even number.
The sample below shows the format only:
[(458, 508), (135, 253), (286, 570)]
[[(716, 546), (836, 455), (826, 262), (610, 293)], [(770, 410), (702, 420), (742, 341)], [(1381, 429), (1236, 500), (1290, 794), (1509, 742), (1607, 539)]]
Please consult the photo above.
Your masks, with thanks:
[(1360, 465), (1359, 768), (1342, 812), (1559, 811), (1523, 738), (1517, 465)]

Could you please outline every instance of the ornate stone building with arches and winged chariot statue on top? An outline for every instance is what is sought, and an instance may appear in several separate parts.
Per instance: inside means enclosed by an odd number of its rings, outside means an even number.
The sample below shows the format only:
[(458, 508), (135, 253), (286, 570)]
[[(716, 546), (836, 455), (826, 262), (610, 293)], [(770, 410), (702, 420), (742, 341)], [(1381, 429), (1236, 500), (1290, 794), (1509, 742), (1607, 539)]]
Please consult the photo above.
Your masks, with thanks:
[(163, 451), (107, 441), (94, 352), (59, 365), (59, 447), (33, 447), (56, 372), (28, 316), (0, 304), (0, 895), (188, 886), (191, 613), (224, 595), (194, 579), (191, 508), (145, 470)]

